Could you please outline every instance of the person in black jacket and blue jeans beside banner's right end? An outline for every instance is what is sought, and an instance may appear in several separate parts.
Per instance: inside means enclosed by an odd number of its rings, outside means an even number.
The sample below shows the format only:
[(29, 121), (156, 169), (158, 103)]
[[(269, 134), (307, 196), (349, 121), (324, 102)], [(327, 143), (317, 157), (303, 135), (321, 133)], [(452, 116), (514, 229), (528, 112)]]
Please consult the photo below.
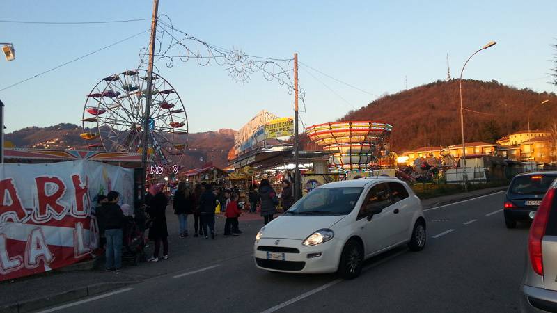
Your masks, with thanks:
[(107, 262), (104, 268), (106, 271), (118, 271), (122, 267), (122, 229), (126, 217), (118, 205), (120, 193), (110, 191), (107, 195), (107, 200), (96, 212), (97, 217), (102, 221), (102, 225), (104, 225), (104, 236), (107, 238)]

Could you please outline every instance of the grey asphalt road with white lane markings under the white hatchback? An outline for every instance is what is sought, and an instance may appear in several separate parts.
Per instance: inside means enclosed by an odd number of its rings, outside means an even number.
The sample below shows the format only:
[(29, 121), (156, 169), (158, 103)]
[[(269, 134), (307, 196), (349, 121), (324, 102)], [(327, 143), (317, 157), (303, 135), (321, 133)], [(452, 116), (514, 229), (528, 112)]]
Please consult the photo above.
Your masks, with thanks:
[(386, 252), (350, 281), (258, 270), (261, 222), (244, 223), (238, 238), (183, 239), (191, 252), (146, 264), (160, 275), (47, 312), (518, 312), (529, 225), (506, 229), (502, 204), (496, 193), (425, 211), (423, 251)]

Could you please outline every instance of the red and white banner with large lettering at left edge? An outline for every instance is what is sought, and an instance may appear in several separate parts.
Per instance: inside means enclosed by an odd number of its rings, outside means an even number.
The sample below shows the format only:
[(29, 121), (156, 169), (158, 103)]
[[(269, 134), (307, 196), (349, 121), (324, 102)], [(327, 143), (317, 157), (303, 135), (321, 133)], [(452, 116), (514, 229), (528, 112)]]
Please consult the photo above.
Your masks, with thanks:
[(0, 166), (0, 281), (68, 266), (98, 246), (96, 196), (133, 204), (133, 170), (93, 161)]

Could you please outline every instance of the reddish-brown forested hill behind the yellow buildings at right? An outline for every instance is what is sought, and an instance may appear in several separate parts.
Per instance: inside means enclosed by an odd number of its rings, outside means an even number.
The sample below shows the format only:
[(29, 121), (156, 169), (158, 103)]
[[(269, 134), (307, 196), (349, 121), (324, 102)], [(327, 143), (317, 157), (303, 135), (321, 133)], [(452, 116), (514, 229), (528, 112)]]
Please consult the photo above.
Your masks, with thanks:
[[(535, 93), (497, 81), (462, 80), (466, 141), (494, 143), (497, 138), (527, 129), (547, 128), (557, 119), (555, 93)], [(540, 104), (549, 99), (547, 104)], [(535, 108), (537, 106), (537, 108)], [(469, 111), (471, 110), (471, 111)], [(350, 111), (339, 120), (381, 120), (393, 125), (393, 150), (460, 143), (458, 79), (428, 83), (393, 95), (385, 95), (367, 106)]]

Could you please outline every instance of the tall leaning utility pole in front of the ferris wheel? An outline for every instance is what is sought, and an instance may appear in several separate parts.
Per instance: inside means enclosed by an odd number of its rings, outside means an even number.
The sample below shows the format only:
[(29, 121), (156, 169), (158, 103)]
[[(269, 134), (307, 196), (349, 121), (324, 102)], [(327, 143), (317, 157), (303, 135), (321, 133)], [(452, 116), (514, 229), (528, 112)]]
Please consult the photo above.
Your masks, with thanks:
[(147, 152), (149, 150), (149, 120), (150, 108), (152, 102), (152, 59), (155, 54), (155, 36), (157, 35), (157, 16), (159, 12), (159, 0), (153, 0), (152, 3), (152, 19), (151, 19), (151, 40), (149, 43), (149, 65), (147, 68), (147, 95), (145, 101), (145, 115), (143, 116), (143, 154), (141, 162), (143, 163), (143, 182), (141, 186), (141, 202), (145, 197), (145, 186), (147, 181)]

